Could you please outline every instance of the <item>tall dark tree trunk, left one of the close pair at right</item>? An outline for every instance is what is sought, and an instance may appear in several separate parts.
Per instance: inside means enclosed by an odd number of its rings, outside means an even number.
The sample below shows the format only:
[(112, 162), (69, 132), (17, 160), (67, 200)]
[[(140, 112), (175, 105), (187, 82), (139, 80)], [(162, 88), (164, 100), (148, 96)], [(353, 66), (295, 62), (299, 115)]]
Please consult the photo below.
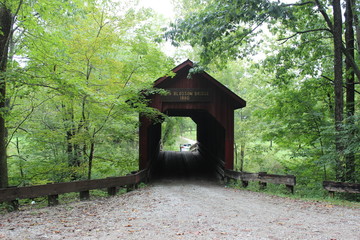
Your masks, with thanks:
[(333, 14), (334, 14), (334, 94), (335, 94), (335, 148), (336, 148), (336, 178), (339, 181), (343, 180), (343, 152), (344, 146), (342, 143), (343, 131), (343, 58), (342, 58), (342, 19), (341, 19), (341, 5), (339, 0), (333, 0)]

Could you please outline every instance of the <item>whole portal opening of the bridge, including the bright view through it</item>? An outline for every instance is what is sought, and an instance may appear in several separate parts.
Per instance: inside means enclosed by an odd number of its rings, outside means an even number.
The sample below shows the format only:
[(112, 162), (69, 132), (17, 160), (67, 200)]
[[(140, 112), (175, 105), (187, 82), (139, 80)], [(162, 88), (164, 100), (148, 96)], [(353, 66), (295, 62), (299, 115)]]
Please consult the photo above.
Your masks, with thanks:
[[(225, 131), (216, 119), (199, 110), (168, 110), (166, 114), (169, 118), (161, 125), (161, 146), (151, 165), (152, 177), (220, 178)], [(182, 148), (184, 145), (188, 147)]]

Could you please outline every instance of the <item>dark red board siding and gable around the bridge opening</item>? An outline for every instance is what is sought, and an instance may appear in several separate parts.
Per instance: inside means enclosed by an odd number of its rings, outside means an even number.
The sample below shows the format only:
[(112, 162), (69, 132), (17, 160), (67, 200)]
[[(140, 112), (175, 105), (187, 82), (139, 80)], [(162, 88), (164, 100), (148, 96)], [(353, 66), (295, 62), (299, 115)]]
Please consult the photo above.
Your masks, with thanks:
[[(150, 106), (169, 116), (191, 117), (198, 126), (197, 140), (223, 159), (226, 169), (233, 169), (234, 162), (234, 110), (246, 106), (246, 102), (206, 72), (188, 78), (193, 67), (190, 60), (173, 69), (174, 77), (162, 77), (154, 87), (162, 89), (184, 89), (184, 91), (209, 90), (210, 101), (165, 101), (160, 95), (152, 95)], [(145, 169), (156, 155), (153, 149), (161, 138), (161, 125), (153, 125), (140, 117), (139, 168)]]

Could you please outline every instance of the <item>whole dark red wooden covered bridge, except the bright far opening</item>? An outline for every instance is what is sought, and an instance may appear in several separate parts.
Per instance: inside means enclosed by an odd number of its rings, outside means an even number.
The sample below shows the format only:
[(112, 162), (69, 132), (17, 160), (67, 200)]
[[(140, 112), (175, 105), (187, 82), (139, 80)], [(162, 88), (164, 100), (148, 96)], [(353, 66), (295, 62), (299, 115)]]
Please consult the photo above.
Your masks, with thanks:
[(233, 169), (234, 110), (245, 107), (246, 102), (206, 72), (190, 76), (193, 67), (190, 60), (175, 67), (175, 76), (165, 76), (154, 83), (155, 88), (168, 94), (148, 96), (149, 106), (159, 112), (169, 117), (190, 117), (196, 123), (197, 144), (193, 153), (161, 151), (161, 118), (150, 120), (141, 115), (140, 170), (151, 168), (151, 172), (170, 173), (174, 168), (184, 169), (187, 174), (211, 169), (221, 174), (224, 169)]

